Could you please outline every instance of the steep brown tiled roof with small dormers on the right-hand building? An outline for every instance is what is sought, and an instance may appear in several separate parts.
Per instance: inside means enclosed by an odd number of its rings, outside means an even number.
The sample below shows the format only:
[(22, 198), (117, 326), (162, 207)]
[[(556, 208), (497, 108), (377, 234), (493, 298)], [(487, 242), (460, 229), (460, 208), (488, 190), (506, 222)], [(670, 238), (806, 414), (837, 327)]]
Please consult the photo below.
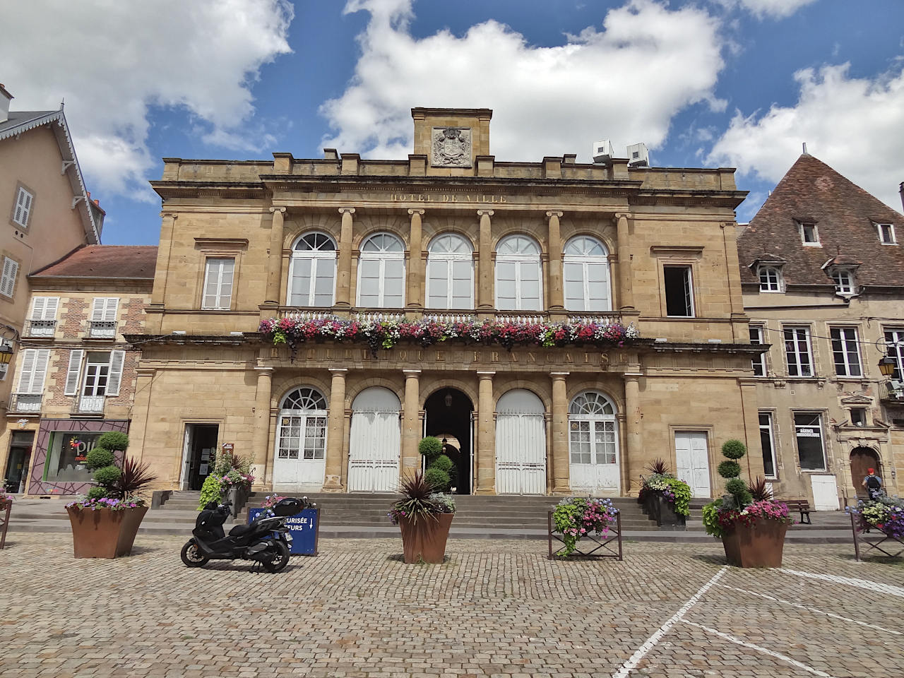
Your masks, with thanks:
[[(822, 247), (805, 247), (797, 221), (815, 223)], [(883, 245), (876, 223), (892, 223), (899, 245)], [(813, 155), (801, 155), (738, 238), (741, 282), (766, 253), (786, 259), (789, 285), (832, 285), (829, 259), (860, 262), (858, 285), (904, 286), (904, 215)]]

